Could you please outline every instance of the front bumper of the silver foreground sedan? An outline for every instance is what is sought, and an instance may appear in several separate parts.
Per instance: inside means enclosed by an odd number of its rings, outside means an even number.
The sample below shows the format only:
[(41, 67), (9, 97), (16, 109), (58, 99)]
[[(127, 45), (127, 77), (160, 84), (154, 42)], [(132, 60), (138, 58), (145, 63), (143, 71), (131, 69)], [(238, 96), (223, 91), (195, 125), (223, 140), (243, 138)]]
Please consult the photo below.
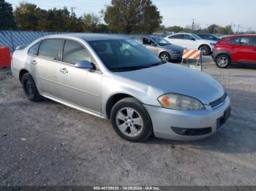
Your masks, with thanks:
[[(211, 106), (206, 105), (206, 110), (200, 111), (178, 111), (158, 106), (143, 106), (151, 117), (156, 137), (188, 141), (203, 139), (217, 132), (219, 119), (222, 119), (225, 111), (230, 107), (230, 98), (227, 96), (222, 106), (216, 109), (211, 109)], [(175, 132), (175, 128), (202, 130), (211, 128), (211, 130), (205, 131), (203, 135), (183, 136)]]

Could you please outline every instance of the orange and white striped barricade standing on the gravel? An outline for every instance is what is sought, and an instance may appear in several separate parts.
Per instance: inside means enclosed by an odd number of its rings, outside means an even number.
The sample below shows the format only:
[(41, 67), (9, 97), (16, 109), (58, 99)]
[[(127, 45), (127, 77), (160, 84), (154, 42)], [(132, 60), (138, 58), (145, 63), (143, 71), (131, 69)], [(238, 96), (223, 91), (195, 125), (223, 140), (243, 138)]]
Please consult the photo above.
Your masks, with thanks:
[[(200, 50), (184, 50), (182, 54), (181, 65), (184, 64), (184, 59), (187, 60), (187, 66), (189, 68), (200, 69), (201, 71), (203, 71), (202, 52)], [(188, 60), (196, 60), (197, 62), (193, 65), (189, 65)]]

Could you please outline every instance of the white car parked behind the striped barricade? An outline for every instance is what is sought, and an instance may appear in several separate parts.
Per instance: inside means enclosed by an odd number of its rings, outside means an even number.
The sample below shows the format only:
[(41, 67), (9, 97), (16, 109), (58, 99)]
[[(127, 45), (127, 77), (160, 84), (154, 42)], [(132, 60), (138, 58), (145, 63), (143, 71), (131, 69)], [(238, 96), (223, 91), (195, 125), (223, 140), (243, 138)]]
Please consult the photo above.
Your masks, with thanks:
[(210, 55), (211, 50), (216, 44), (215, 41), (201, 39), (196, 34), (178, 33), (166, 36), (165, 39), (188, 50), (201, 50), (203, 55)]

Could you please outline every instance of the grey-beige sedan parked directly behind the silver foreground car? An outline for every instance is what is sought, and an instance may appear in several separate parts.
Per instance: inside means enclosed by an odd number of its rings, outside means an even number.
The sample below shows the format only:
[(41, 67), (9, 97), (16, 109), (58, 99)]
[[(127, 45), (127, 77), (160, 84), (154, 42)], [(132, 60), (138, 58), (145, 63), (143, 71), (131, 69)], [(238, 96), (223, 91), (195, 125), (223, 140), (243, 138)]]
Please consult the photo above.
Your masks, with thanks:
[(161, 58), (162, 61), (181, 61), (184, 47), (177, 46), (175, 44), (170, 44), (167, 40), (155, 36), (129, 36), (135, 41), (143, 44), (148, 50), (150, 50), (154, 55)]

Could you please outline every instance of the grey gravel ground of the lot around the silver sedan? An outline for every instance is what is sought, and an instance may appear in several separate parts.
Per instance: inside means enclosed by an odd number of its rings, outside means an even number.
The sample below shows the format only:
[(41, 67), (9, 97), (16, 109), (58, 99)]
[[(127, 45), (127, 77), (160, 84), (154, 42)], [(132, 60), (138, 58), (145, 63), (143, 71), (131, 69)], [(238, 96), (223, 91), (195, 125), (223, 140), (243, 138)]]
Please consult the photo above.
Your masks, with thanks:
[(204, 59), (227, 87), (232, 117), (214, 136), (185, 142), (124, 141), (107, 120), (28, 101), (0, 69), (0, 184), (256, 185), (256, 67), (217, 69)]

